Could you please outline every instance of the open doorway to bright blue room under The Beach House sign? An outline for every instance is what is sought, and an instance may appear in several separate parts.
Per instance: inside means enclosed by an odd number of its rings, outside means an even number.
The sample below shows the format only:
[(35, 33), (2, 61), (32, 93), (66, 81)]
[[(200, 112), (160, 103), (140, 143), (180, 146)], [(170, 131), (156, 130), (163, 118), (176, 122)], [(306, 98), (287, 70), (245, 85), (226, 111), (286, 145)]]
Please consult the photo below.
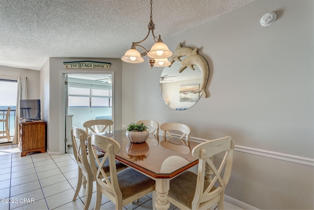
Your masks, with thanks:
[(72, 153), (71, 129), (93, 119), (113, 120), (113, 72), (65, 74), (65, 152)]

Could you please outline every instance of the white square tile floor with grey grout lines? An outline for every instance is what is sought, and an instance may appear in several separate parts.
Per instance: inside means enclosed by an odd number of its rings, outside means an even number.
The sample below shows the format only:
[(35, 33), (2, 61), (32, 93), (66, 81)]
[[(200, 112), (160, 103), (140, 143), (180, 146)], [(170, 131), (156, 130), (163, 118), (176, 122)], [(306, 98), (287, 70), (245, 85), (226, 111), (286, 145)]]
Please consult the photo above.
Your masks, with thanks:
[[(78, 166), (72, 153), (33, 152), (21, 157), (16, 145), (0, 145), (0, 210), (81, 210), (86, 188), (81, 187), (78, 198), (72, 201), (77, 180)], [(94, 182), (91, 210), (95, 205), (95, 189)], [(7, 199), (8, 203), (2, 199)], [(103, 196), (101, 210), (111, 209), (115, 209), (115, 205)], [(152, 210), (152, 194), (124, 206), (124, 210), (133, 209)], [(172, 204), (170, 209), (178, 210)], [(241, 210), (228, 202), (225, 202), (225, 209)]]

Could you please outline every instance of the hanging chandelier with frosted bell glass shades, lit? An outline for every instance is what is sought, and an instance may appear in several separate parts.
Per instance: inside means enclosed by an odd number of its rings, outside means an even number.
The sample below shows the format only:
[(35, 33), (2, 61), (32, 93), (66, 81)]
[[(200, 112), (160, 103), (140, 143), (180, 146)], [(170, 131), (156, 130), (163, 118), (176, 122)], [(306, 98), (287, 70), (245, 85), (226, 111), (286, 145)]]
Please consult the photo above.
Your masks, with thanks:
[[(132, 42), (131, 49), (128, 50), (125, 53), (125, 55), (121, 58), (121, 60), (123, 60), (124, 62), (129, 62), (129, 63), (144, 62), (144, 59), (141, 57), (141, 54), (135, 48), (135, 46), (137, 46), (145, 50), (145, 52), (147, 53), (151, 68), (153, 68), (153, 66), (162, 67), (162, 66), (169, 66), (171, 64), (167, 58), (172, 56), (172, 52), (169, 50), (167, 45), (162, 42), (161, 36), (160, 35), (155, 36), (154, 34), (155, 24), (153, 22), (152, 10), (153, 10), (153, 0), (151, 0), (151, 21), (148, 24), (148, 33), (142, 41)], [(147, 51), (143, 46), (139, 44), (147, 39), (151, 31), (154, 37), (155, 44), (152, 46), (150, 51)]]

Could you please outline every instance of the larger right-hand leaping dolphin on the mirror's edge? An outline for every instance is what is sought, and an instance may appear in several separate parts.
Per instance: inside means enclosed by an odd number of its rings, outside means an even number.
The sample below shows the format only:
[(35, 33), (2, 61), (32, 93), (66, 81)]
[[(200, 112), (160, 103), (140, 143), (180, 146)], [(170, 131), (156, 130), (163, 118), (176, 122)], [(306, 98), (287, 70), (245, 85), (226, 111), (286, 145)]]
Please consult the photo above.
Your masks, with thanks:
[(204, 97), (207, 98), (206, 85), (209, 77), (209, 66), (207, 61), (203, 58), (203, 56), (198, 55), (197, 51), (198, 48), (195, 48), (189, 56), (182, 60), (179, 73), (181, 73), (186, 67), (195, 70), (193, 65), (198, 66), (202, 72), (202, 83), (199, 89), (194, 90), (194, 93), (202, 92)]

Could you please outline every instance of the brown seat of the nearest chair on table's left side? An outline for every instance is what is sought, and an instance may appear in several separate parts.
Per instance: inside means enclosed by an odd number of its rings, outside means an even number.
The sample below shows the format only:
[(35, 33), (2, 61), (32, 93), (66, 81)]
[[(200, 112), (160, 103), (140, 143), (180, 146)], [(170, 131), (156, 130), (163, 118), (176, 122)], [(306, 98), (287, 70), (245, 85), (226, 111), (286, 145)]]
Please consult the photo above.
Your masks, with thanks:
[(118, 172), (117, 177), (123, 200), (151, 187), (155, 187), (155, 180), (131, 168)]

